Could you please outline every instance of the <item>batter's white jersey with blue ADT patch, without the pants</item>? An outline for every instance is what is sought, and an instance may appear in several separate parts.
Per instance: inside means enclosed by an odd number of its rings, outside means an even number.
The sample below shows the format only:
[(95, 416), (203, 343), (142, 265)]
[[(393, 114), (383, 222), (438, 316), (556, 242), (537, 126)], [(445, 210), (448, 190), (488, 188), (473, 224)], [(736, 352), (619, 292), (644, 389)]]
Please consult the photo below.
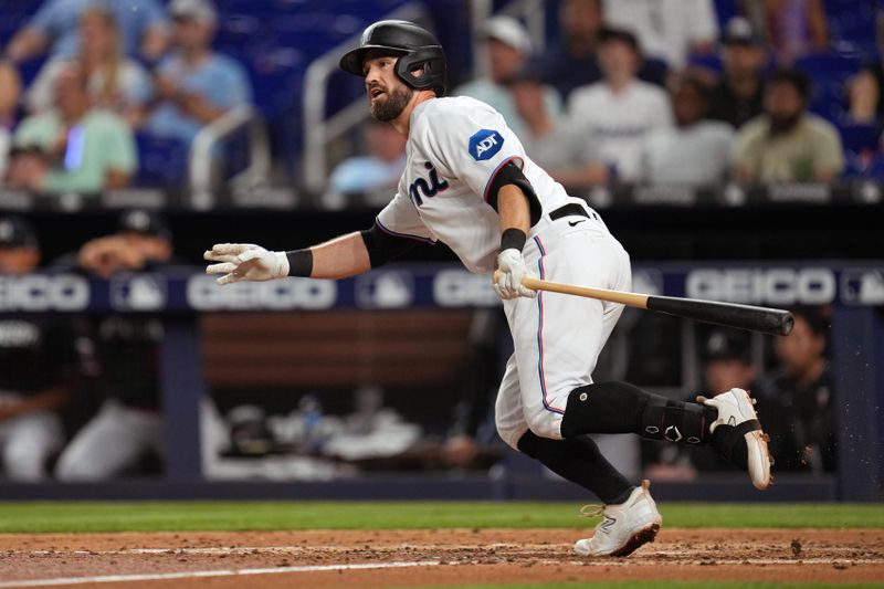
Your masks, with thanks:
[(406, 156), (399, 190), (378, 224), (392, 234), (445, 243), (471, 272), (494, 271), (501, 222), (487, 192), (507, 161), (522, 168), (545, 212), (568, 201), (561, 185), (525, 155), (503, 117), (474, 98), (419, 104)]

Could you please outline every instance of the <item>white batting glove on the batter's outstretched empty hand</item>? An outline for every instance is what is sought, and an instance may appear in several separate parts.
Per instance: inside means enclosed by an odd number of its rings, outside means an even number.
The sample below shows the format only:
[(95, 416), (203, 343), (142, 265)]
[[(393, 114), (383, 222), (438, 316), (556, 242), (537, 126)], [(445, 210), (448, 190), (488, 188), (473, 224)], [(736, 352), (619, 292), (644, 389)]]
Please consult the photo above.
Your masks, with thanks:
[(285, 252), (270, 252), (254, 243), (215, 243), (202, 257), (221, 262), (206, 266), (207, 274), (223, 274), (218, 278), (218, 284), (272, 281), (288, 275)]

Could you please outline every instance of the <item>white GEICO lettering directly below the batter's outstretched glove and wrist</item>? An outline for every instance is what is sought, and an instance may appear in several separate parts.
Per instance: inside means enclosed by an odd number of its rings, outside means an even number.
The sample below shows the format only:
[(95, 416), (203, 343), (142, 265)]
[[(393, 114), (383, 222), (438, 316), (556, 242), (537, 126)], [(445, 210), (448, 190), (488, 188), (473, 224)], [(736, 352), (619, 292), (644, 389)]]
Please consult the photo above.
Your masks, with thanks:
[(285, 278), (269, 282), (234, 282), (220, 286), (211, 276), (187, 281), (187, 302), (197, 311), (220, 309), (322, 309), (335, 306), (334, 281)]

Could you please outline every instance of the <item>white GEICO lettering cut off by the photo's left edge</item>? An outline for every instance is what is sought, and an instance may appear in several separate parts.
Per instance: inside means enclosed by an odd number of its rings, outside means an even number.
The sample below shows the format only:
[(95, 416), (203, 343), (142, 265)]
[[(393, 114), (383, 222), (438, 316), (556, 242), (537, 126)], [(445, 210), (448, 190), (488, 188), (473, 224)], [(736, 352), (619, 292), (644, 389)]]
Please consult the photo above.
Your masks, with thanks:
[(82, 276), (0, 276), (2, 311), (82, 311), (88, 304), (90, 285)]

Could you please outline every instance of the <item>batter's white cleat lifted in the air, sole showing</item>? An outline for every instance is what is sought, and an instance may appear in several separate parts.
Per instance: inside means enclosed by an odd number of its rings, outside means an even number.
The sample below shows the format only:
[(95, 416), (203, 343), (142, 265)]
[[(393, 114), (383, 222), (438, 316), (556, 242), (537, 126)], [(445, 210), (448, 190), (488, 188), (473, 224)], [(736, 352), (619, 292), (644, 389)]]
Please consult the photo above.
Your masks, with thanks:
[[(720, 437), (720, 448), (718, 451), (730, 462), (743, 466), (749, 471), (749, 478), (755, 488), (765, 491), (774, 478), (770, 476), (770, 465), (774, 459), (767, 448), (769, 438), (761, 431), (761, 423), (755, 412), (755, 400), (743, 389), (730, 389), (727, 392), (716, 395), (712, 399), (697, 397), (697, 402), (718, 410), (718, 419), (709, 425), (709, 432), (714, 433), (719, 425), (729, 427)], [(746, 463), (743, 463), (741, 451), (738, 444), (741, 440), (746, 441)]]

